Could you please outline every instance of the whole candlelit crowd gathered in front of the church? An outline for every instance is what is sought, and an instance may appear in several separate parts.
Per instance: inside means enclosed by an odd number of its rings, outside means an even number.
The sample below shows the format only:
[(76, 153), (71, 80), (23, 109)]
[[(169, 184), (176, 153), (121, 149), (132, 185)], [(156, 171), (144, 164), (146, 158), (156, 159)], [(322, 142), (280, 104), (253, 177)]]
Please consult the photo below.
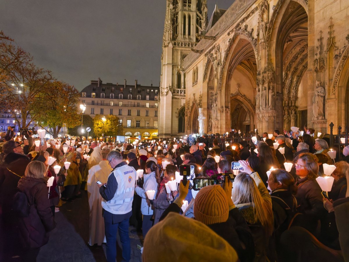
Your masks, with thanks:
[[(117, 234), (122, 259), (131, 259), (130, 225), (143, 236), (143, 261), (349, 261), (349, 146), (334, 162), (326, 134), (275, 130), (246, 140), (232, 130), (222, 145), (206, 134), (113, 143), (26, 132), (0, 134), (4, 261), (36, 261), (55, 212), (82, 190), (88, 244), (106, 243), (107, 261)], [(317, 178), (329, 175), (324, 192)], [(199, 180), (209, 185), (195, 188)]]

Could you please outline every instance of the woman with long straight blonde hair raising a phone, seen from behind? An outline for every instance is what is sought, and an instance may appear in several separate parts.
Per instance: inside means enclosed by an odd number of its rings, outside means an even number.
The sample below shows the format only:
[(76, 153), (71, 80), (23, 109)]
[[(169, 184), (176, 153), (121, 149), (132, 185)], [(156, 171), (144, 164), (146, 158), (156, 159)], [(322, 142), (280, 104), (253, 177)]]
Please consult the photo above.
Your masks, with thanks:
[[(273, 233), (272, 198), (267, 188), (249, 163), (240, 160), (244, 172), (234, 181), (232, 201), (242, 213), (255, 242), (255, 261), (267, 260), (269, 239)], [(269, 255), (270, 256), (270, 255)], [(272, 260), (273, 257), (269, 257)]]

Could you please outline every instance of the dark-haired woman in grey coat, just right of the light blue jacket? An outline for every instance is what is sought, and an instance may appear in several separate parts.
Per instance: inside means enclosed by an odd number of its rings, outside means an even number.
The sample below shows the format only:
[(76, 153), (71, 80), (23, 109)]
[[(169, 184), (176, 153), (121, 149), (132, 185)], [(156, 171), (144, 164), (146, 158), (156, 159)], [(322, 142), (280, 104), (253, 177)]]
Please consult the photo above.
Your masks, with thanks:
[(176, 172), (179, 171), (178, 168), (172, 164), (169, 164), (165, 167), (164, 171), (164, 177), (159, 183), (159, 188), (154, 199), (154, 225), (159, 222), (162, 213), (170, 205), (169, 201), (173, 201), (174, 196), (178, 194), (177, 191), (167, 194), (165, 186), (165, 184), (168, 183), (171, 178), (173, 179), (175, 177)]

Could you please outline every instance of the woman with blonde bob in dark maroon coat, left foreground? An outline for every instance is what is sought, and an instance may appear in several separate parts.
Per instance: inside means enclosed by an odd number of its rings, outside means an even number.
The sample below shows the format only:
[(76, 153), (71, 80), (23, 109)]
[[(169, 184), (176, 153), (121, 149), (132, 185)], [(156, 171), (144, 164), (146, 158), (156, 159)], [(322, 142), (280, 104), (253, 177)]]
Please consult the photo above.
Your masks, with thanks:
[(18, 189), (23, 192), (30, 205), (28, 217), (18, 221), (23, 259), (36, 261), (40, 247), (49, 241), (49, 231), (55, 223), (47, 198), (47, 184), (44, 179), (46, 166), (40, 161), (31, 161), (25, 169), (24, 176), (18, 181)]

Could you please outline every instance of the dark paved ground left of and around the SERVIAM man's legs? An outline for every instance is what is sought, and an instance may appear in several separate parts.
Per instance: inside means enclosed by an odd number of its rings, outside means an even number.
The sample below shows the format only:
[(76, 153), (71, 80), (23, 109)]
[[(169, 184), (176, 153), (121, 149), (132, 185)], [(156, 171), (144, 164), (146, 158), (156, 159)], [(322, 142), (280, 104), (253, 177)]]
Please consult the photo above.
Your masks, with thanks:
[[(65, 203), (60, 212), (55, 213), (57, 228), (51, 232), (49, 243), (40, 249), (38, 262), (105, 262), (105, 245), (90, 247), (88, 242), (88, 200), (87, 192), (81, 197)], [(139, 262), (142, 236), (132, 226), (129, 227), (131, 238), (131, 261)], [(117, 261), (121, 261), (121, 243), (118, 237)]]

